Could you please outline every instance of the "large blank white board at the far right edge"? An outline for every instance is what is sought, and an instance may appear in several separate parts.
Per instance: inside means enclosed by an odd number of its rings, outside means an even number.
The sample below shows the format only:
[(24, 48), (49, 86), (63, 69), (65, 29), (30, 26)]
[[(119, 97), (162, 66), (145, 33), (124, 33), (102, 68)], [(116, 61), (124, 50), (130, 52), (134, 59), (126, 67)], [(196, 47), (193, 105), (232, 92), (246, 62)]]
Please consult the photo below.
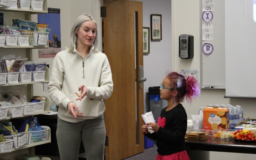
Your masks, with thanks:
[(225, 0), (225, 44), (225, 97), (256, 97), (256, 0)]

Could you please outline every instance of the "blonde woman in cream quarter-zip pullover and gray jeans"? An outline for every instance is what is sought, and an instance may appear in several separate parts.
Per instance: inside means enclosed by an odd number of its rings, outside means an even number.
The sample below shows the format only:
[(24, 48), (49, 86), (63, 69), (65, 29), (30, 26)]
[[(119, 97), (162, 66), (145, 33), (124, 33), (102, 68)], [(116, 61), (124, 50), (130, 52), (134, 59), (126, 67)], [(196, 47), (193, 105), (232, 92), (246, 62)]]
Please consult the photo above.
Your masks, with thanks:
[(79, 16), (71, 30), (70, 48), (53, 60), (48, 90), (59, 106), (56, 136), (61, 160), (78, 160), (81, 139), (86, 160), (103, 160), (103, 99), (112, 94), (113, 80), (107, 56), (95, 48), (96, 31), (93, 17)]

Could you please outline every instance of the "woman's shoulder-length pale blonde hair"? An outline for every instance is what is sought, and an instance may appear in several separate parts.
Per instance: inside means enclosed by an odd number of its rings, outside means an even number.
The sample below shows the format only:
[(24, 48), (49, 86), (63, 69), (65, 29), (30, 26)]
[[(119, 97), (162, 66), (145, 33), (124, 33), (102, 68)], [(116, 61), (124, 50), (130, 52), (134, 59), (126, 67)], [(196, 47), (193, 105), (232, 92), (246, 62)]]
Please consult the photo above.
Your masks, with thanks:
[[(71, 53), (74, 52), (75, 45), (77, 45), (77, 35), (75, 34), (75, 32), (80, 29), (81, 25), (85, 21), (92, 21), (92, 22), (94, 22), (96, 24), (96, 21), (94, 20), (94, 18), (91, 15), (89, 15), (89, 14), (82, 14), (82, 15), (80, 15), (76, 19), (76, 21), (75, 21), (75, 23), (74, 23), (74, 25), (73, 25), (73, 27), (71, 29), (70, 47), (69, 47), (69, 51)], [(97, 24), (96, 24), (96, 26), (97, 26)], [(92, 44), (94, 46), (94, 52), (98, 52), (97, 48), (96, 48), (96, 46), (97, 46), (97, 31), (96, 31), (96, 37), (95, 37), (95, 39), (94, 39)]]

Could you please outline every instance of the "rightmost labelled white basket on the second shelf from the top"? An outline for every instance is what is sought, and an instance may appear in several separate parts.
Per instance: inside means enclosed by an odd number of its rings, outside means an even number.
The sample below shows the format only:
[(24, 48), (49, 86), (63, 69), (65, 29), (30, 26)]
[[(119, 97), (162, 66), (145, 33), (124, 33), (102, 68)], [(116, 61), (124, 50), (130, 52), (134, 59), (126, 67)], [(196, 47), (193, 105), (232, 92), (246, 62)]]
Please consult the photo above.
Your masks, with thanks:
[(33, 46), (48, 45), (49, 32), (21, 32), (22, 35), (29, 35), (28, 43)]

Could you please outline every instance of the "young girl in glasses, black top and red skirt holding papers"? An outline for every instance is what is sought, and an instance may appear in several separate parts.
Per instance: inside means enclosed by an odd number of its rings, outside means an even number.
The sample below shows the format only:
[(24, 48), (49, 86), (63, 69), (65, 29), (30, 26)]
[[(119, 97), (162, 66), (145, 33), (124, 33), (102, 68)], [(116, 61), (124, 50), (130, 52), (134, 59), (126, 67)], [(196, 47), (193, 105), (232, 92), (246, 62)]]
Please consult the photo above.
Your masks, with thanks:
[[(194, 77), (187, 80), (179, 73), (172, 72), (160, 84), (160, 98), (167, 100), (168, 106), (162, 109), (158, 123), (142, 125), (142, 132), (156, 140), (158, 155), (156, 160), (190, 160), (185, 150), (187, 113), (180, 102), (192, 99), (200, 94), (199, 83)], [(148, 132), (148, 127), (155, 131)]]

